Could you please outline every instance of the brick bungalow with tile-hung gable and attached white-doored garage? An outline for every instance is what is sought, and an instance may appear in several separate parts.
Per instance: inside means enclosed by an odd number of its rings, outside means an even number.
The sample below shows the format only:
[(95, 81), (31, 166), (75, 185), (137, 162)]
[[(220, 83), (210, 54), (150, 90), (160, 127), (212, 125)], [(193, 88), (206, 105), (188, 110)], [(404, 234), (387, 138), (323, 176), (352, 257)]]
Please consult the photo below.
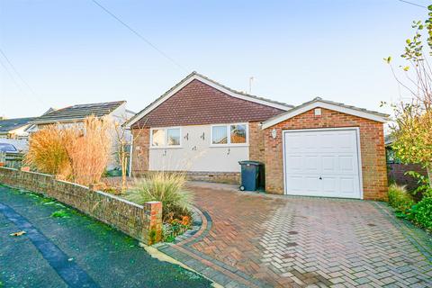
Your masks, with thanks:
[(125, 125), (132, 175), (238, 183), (238, 161), (257, 160), (267, 193), (385, 199), (387, 116), (320, 98), (294, 107), (193, 72)]

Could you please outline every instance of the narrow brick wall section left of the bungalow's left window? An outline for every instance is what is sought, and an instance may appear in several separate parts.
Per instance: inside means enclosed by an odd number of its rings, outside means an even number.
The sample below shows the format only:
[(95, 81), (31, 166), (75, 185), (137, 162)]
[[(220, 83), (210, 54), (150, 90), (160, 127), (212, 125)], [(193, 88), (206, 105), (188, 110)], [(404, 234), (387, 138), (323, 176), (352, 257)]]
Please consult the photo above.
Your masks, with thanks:
[(148, 171), (150, 129), (132, 129), (132, 175), (143, 175)]

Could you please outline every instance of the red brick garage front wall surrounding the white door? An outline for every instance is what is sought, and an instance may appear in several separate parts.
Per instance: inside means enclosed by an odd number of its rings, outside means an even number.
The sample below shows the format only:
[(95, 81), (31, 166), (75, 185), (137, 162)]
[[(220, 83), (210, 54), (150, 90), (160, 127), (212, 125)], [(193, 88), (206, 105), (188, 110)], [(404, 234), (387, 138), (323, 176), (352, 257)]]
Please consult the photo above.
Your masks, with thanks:
[[(315, 116), (310, 110), (265, 130), (266, 191), (284, 193), (283, 130), (337, 127), (359, 127), (364, 198), (386, 200), (383, 123), (322, 108), (321, 116)], [(271, 135), (274, 128), (277, 132), (275, 139)]]

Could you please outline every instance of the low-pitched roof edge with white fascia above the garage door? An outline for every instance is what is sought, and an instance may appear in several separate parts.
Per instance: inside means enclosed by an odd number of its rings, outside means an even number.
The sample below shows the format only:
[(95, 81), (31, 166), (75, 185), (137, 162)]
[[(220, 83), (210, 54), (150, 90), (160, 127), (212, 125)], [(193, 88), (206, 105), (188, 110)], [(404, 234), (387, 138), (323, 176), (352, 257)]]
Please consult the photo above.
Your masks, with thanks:
[(381, 112), (370, 111), (363, 108), (347, 105), (345, 103), (336, 103), (333, 101), (324, 100), (320, 97), (316, 97), (309, 102), (302, 103), (301, 105), (294, 107), (288, 112), (281, 113), (280, 115), (276, 115), (275, 117), (268, 119), (263, 123), (262, 128), (266, 129), (268, 127), (274, 126), (279, 122), (293, 118), (294, 116), (302, 114), (303, 112), (310, 111), (314, 108), (326, 108), (329, 110), (338, 111), (379, 122), (386, 122), (387, 118), (389, 117), (388, 114), (384, 114)]

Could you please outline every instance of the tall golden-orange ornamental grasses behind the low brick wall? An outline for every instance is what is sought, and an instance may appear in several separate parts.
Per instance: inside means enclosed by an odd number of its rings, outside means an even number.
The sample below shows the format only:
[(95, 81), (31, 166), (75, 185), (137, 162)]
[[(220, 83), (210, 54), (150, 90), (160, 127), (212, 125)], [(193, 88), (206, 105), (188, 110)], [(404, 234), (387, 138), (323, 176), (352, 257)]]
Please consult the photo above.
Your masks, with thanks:
[(49, 125), (31, 135), (25, 162), (78, 184), (100, 182), (111, 155), (112, 122), (87, 117), (82, 123)]

